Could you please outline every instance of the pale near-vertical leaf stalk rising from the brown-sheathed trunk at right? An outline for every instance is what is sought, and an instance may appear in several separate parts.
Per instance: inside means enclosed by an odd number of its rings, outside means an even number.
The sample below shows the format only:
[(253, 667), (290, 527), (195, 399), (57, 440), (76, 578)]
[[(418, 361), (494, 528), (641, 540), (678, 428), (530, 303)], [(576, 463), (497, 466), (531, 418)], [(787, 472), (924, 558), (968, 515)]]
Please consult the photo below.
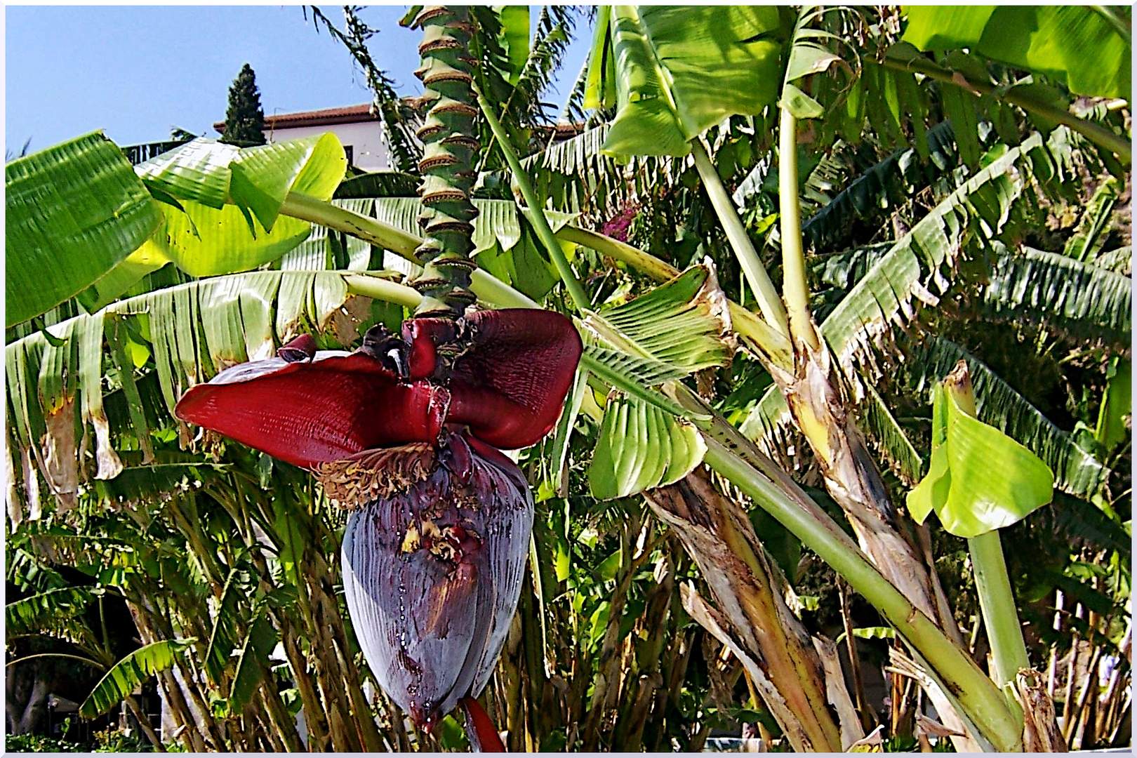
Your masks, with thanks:
[(810, 319), (810, 282), (802, 247), (802, 208), (797, 197), (797, 118), (781, 109), (778, 126), (778, 203), (781, 211), (782, 295), (789, 311), (789, 333), (811, 350), (821, 342)]

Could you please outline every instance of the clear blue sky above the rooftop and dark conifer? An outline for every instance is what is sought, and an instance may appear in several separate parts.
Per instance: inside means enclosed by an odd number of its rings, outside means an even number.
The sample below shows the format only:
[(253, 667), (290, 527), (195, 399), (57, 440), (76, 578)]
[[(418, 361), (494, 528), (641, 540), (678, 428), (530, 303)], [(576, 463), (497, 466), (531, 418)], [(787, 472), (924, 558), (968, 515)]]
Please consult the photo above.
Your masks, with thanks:
[[(340, 6), (322, 6), (342, 25)], [(398, 25), (406, 6), (372, 6), (360, 17), (380, 33), (368, 48), (404, 94), (420, 33)], [(536, 8), (533, 16), (536, 17)], [(588, 52), (578, 26), (561, 73), (567, 94)], [(5, 145), (31, 151), (103, 130), (118, 144), (169, 139), (179, 126), (217, 136), (229, 86), (241, 65), (257, 74), (265, 115), (371, 100), (360, 72), (301, 6), (7, 6)], [(563, 103), (565, 94), (550, 93)]]

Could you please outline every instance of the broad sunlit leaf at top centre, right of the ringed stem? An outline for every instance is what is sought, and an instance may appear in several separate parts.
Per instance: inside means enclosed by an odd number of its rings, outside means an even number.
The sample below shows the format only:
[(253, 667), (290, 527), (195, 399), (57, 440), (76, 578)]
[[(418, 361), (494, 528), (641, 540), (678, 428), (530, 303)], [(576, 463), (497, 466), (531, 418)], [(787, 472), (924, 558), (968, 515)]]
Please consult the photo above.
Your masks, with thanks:
[(606, 9), (588, 73), (588, 101), (619, 106), (605, 151), (686, 156), (727, 116), (761, 114), (778, 97), (790, 31), (772, 6)]

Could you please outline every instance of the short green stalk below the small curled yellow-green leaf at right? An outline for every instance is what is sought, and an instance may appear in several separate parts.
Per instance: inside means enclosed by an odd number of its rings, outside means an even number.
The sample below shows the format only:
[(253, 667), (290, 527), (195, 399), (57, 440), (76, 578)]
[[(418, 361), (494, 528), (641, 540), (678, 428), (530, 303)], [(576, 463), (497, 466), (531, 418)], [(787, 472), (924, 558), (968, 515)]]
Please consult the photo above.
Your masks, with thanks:
[(999, 686), (1013, 684), (1020, 668), (1029, 668), (1027, 645), (1015, 610), (1011, 580), (1003, 560), (1003, 544), (998, 530), (968, 540), (971, 566), (976, 572), (979, 608), (991, 645), (991, 678)]

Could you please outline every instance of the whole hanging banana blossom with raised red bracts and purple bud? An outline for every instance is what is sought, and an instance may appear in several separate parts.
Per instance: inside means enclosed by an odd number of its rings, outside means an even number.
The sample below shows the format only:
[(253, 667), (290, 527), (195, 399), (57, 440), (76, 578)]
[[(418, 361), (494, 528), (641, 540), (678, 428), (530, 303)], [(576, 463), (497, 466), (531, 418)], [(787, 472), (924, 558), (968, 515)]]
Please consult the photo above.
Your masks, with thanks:
[(521, 592), (533, 499), (497, 448), (556, 423), (580, 359), (542, 310), (373, 327), (355, 352), (309, 335), (182, 397), (180, 418), (310, 468), (354, 510), (343, 588), (376, 680), (421, 726), (463, 702), (475, 748), (500, 750), (476, 701)]

